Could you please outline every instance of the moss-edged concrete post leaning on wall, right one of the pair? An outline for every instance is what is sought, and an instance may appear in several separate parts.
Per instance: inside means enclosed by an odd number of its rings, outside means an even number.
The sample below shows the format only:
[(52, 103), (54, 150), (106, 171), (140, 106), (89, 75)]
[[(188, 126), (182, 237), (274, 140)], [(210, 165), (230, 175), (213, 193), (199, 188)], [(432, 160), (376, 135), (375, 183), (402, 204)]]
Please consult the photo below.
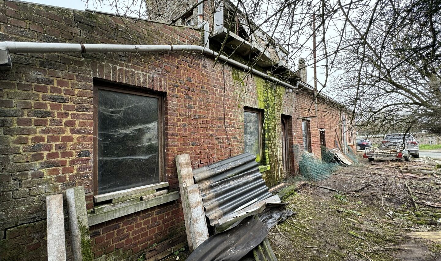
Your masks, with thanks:
[(72, 254), (75, 261), (91, 261), (89, 226), (87, 224), (84, 186), (66, 190), (69, 224), (71, 230)]

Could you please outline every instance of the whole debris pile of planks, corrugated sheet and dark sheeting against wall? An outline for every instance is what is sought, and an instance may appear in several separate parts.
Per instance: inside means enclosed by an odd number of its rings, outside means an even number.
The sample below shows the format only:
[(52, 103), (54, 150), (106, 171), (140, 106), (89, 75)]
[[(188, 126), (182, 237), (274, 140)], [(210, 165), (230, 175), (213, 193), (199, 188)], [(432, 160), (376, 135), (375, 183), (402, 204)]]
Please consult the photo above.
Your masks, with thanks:
[(188, 154), (176, 156), (187, 260), (277, 260), (266, 236), (293, 212), (281, 210), (255, 159), (243, 153), (193, 171)]

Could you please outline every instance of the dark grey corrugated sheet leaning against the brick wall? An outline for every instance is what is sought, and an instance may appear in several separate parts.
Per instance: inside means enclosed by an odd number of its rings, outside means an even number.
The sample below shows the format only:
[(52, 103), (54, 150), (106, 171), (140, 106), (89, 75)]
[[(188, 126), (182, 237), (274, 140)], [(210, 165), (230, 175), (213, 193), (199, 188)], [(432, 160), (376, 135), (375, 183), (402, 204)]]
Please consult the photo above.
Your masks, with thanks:
[(210, 224), (271, 197), (257, 168), (256, 156), (243, 153), (193, 170)]

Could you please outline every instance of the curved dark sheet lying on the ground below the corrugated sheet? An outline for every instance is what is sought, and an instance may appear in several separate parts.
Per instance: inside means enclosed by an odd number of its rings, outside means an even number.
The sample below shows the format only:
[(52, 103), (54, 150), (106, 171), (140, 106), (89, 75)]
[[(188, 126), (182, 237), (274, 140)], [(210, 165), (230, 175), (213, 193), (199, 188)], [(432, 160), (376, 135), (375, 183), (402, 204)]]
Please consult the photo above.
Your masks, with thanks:
[(187, 261), (238, 261), (267, 235), (266, 224), (251, 216), (236, 227), (209, 237), (187, 257)]

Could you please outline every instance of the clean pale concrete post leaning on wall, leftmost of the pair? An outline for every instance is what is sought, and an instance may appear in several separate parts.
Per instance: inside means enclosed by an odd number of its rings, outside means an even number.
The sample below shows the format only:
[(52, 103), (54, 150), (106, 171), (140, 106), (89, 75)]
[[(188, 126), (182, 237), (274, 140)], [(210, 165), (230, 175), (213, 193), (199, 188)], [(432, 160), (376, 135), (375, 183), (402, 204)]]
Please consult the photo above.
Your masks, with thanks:
[(48, 261), (66, 261), (63, 194), (46, 197)]

